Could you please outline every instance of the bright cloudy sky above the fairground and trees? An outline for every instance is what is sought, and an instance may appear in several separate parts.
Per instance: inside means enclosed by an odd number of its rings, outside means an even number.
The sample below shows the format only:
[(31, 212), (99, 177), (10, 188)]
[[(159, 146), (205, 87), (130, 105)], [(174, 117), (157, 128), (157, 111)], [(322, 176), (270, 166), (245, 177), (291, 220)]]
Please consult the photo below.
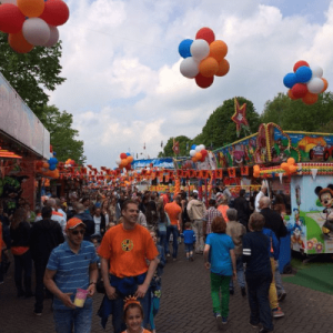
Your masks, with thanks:
[[(333, 0), (65, 0), (60, 27), (65, 83), (50, 103), (74, 115), (88, 164), (115, 167), (121, 152), (157, 157), (170, 137), (200, 133), (224, 100), (259, 113), (285, 92), (301, 59), (333, 84)], [(200, 89), (181, 75), (179, 43), (202, 27), (229, 47), (231, 69)]]

